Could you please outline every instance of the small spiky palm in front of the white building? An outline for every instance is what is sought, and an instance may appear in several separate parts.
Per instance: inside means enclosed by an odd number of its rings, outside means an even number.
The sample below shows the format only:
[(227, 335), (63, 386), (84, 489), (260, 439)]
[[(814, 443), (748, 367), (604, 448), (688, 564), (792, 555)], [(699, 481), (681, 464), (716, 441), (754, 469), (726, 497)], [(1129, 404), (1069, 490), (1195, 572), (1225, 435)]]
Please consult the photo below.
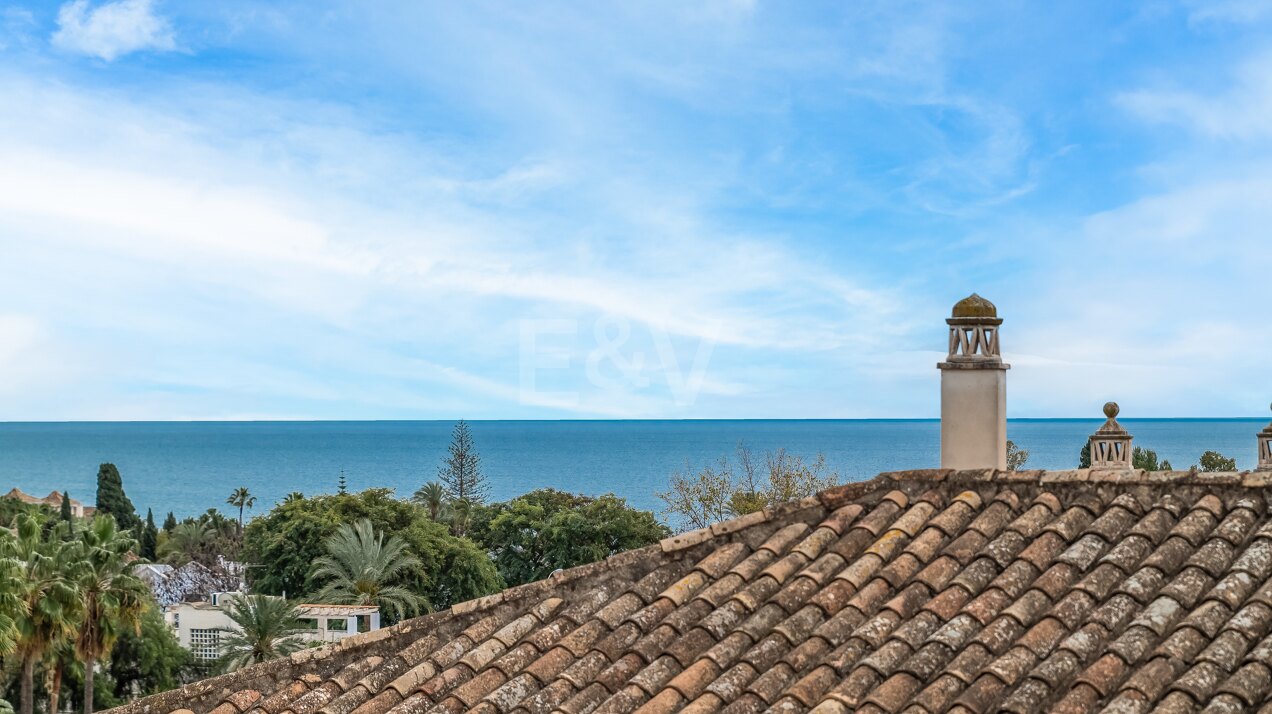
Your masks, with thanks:
[(300, 612), (281, 597), (262, 594), (232, 599), (225, 613), (234, 621), (223, 630), (220, 669), (233, 672), (248, 664), (286, 657), (305, 647), (307, 627)]

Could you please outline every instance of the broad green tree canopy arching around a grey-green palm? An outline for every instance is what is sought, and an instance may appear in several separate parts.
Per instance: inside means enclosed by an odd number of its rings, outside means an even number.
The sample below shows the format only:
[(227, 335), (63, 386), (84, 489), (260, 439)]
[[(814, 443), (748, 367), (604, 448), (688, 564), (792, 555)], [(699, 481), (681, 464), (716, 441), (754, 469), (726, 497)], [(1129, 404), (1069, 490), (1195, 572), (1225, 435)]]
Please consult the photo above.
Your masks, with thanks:
[(468, 538), (450, 535), (422, 508), (393, 498), (389, 489), (287, 499), (243, 528), (243, 557), (262, 593), (312, 597), (322, 589), (313, 564), (327, 554), (324, 543), (341, 524), (365, 518), (380, 533), (406, 543), (418, 564), (399, 583), (434, 607), (497, 592), (502, 582), (490, 556)]

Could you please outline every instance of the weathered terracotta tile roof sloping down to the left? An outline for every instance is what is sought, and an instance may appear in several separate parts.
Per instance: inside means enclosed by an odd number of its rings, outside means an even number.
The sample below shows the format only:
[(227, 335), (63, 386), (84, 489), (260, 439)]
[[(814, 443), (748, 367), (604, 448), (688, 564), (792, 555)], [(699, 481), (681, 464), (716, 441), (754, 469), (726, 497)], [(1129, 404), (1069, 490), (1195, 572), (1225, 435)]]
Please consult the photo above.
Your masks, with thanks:
[(117, 711), (1238, 711), (1272, 473), (909, 471)]

